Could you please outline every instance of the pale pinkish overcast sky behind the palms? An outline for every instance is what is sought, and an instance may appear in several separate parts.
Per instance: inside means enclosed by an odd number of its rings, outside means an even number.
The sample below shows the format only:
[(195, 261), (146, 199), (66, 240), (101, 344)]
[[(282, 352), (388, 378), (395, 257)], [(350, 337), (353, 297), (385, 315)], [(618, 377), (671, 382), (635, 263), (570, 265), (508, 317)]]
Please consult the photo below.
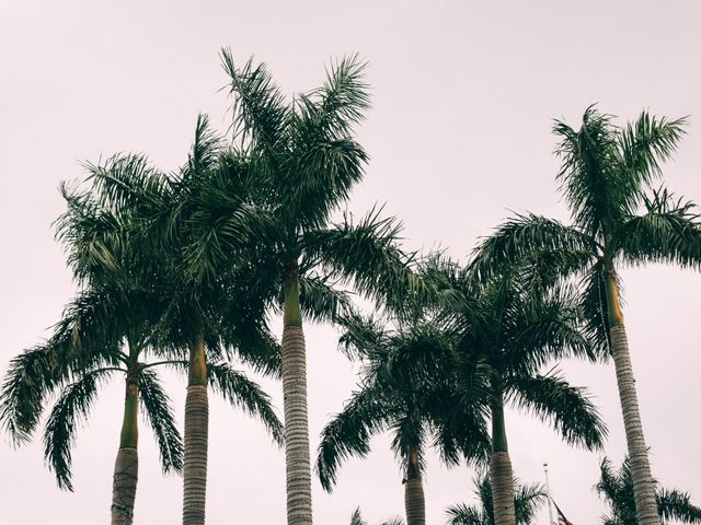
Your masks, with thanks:
[[(387, 202), (410, 249), (443, 246), (464, 258), (512, 211), (567, 219), (556, 192), (552, 119), (578, 127), (584, 109), (634, 118), (691, 115), (666, 168), (674, 191), (701, 200), (701, 33), (698, 2), (675, 1), (44, 1), (0, 2), (0, 372), (46, 337), (74, 292), (51, 222), (65, 210), (60, 180), (80, 162), (147, 153), (164, 170), (186, 156), (199, 112), (226, 129), (229, 101), (218, 51), (264, 60), (292, 94), (319, 85), (334, 57), (370, 67), (372, 109), (359, 128), (371, 155), (350, 210)], [(622, 272), (624, 310), (653, 472), (701, 503), (701, 276), (660, 267)], [(276, 334), (281, 326), (275, 326)], [(355, 386), (337, 335), (308, 325), (312, 447)], [(624, 438), (612, 365), (565, 363), (596, 395), (616, 464)], [(117, 380), (115, 377), (115, 380)], [(281, 413), (281, 387), (266, 383)], [(169, 382), (179, 412), (185, 383)], [(214, 398), (214, 396), (212, 396)], [(101, 394), (74, 448), (74, 493), (56, 488), (41, 440), (0, 444), (2, 520), (94, 524), (108, 520), (122, 419), (119, 378)], [(283, 524), (284, 456), (256, 421), (212, 399), (207, 521)], [(566, 447), (540, 422), (507, 413), (516, 475), (543, 481), (575, 525), (598, 523), (591, 490), (600, 454)], [(160, 475), (142, 425), (136, 523), (177, 523), (180, 479)], [(429, 462), (427, 522), (472, 499), (473, 472)], [(357, 505), (370, 523), (403, 514), (399, 465), (387, 436), (340, 470), (332, 495), (314, 481), (318, 524), (345, 524)], [(547, 512), (539, 516), (547, 523)]]

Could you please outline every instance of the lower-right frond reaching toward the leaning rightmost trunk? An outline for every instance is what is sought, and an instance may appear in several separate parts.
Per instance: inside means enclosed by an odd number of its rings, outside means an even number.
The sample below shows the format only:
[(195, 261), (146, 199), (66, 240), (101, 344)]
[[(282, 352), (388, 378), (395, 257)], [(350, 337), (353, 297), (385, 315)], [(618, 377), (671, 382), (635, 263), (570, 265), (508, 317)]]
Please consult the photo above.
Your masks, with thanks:
[(509, 400), (519, 409), (550, 421), (567, 443), (589, 450), (604, 445), (606, 424), (585, 388), (571, 386), (558, 371), (532, 377), (514, 376), (506, 382)]

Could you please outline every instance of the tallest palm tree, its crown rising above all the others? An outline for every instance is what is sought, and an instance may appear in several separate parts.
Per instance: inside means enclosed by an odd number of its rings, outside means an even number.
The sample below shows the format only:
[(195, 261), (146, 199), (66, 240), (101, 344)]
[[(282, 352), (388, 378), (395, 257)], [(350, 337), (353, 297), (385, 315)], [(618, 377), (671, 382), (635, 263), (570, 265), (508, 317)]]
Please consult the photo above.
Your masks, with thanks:
[[(364, 65), (356, 57), (341, 60), (329, 69), (322, 88), (288, 103), (265, 65), (249, 61), (239, 68), (228, 50), (222, 51), (222, 61), (234, 100), (234, 141), (250, 160), (262, 188), (260, 202), (274, 221), (272, 228), (260, 224), (253, 230), (267, 254), (265, 260), (274, 260), (272, 282), (283, 299), (287, 521), (309, 525), (311, 466), (300, 298), (309, 283), (321, 283), (327, 292), (321, 296), (334, 300), (337, 295), (329, 284), (345, 281), (359, 292), (397, 304), (402, 294), (417, 289), (417, 281), (397, 247), (394, 221), (371, 211), (359, 222), (348, 215), (332, 222), (367, 162), (353, 136), (354, 125), (368, 107)], [(204, 246), (218, 232), (214, 224), (203, 236)], [(230, 252), (226, 248), (230, 242), (231, 252), (238, 252), (238, 240), (217, 238), (221, 253)], [(211, 254), (204, 246), (197, 252), (200, 267), (212, 270), (220, 253)]]

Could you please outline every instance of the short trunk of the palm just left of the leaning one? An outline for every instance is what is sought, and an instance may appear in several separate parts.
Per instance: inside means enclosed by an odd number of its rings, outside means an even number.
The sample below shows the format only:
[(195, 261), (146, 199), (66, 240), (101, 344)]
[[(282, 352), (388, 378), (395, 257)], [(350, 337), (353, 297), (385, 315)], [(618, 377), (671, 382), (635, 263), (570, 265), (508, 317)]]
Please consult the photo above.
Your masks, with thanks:
[(496, 525), (516, 525), (514, 509), (514, 471), (506, 441), (504, 397), (495, 381), (495, 399), (492, 402), (492, 455), (490, 456), (490, 480)]

